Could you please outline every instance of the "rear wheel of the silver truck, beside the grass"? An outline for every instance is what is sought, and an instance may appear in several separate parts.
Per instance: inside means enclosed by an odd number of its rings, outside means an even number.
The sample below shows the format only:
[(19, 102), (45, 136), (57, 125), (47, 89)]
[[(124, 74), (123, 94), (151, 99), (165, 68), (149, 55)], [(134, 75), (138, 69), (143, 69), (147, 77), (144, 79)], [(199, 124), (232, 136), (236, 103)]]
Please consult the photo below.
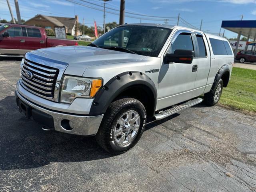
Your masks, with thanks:
[(204, 103), (209, 106), (214, 106), (220, 100), (222, 94), (223, 81), (220, 79), (217, 85), (208, 93), (204, 94)]

